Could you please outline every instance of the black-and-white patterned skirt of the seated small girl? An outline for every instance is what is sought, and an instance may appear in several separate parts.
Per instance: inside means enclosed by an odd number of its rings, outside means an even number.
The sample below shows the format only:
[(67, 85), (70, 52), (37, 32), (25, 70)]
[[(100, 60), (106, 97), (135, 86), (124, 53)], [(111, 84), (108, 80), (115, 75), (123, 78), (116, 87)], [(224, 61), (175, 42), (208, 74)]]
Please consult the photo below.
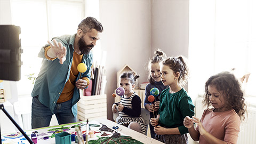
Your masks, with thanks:
[(116, 122), (118, 124), (124, 125), (126, 127), (128, 127), (128, 125), (132, 122), (137, 122), (137, 123), (140, 124), (141, 133), (146, 134), (147, 125), (145, 124), (142, 117), (121, 117), (121, 116), (118, 116), (116, 118)]

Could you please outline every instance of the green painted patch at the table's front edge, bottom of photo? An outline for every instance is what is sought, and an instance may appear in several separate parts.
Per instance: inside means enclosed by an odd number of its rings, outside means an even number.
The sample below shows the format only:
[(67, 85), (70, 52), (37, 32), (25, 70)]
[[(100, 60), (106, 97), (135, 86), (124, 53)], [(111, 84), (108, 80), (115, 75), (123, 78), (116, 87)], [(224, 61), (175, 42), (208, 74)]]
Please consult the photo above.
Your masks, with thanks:
[(132, 137), (129, 136), (120, 136), (118, 138), (113, 138), (113, 137), (102, 137), (99, 138), (98, 140), (90, 140), (88, 142), (89, 144), (116, 144), (116, 143), (125, 143), (125, 144), (143, 144), (142, 142), (133, 139)]

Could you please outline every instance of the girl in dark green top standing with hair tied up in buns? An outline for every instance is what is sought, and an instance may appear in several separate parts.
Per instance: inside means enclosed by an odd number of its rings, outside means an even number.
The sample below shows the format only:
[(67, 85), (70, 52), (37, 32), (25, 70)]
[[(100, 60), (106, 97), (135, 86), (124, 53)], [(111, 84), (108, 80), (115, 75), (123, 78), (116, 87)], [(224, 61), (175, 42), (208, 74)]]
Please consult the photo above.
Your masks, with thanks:
[(182, 87), (188, 79), (188, 67), (182, 56), (167, 58), (161, 63), (161, 81), (169, 88), (162, 91), (155, 126), (155, 139), (164, 143), (188, 143), (188, 129), (183, 125), (186, 116), (192, 117), (194, 105)]

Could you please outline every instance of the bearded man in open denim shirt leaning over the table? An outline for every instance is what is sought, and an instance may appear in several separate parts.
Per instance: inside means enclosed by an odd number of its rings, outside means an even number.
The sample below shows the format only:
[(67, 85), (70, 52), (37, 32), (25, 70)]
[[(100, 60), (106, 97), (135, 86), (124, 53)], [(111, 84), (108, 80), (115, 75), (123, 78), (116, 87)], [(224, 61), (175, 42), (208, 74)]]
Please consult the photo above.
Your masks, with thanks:
[[(91, 50), (102, 31), (97, 19), (87, 17), (79, 23), (76, 34), (54, 37), (42, 47), (38, 54), (43, 58), (42, 67), (31, 93), (32, 129), (49, 126), (54, 114), (59, 124), (77, 121), (79, 89), (89, 85), (93, 63)], [(77, 65), (81, 62), (87, 70), (80, 74)]]

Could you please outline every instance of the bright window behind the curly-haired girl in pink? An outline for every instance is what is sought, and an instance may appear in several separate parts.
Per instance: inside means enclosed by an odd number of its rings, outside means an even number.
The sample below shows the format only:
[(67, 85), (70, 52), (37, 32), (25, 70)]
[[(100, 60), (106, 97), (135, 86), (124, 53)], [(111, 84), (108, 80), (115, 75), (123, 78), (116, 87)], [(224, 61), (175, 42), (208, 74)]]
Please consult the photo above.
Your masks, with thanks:
[(211, 75), (233, 68), (238, 78), (251, 73), (244, 86), (248, 95), (255, 95), (255, 6), (254, 0), (189, 2), (189, 92), (192, 95), (204, 93), (204, 84)]

